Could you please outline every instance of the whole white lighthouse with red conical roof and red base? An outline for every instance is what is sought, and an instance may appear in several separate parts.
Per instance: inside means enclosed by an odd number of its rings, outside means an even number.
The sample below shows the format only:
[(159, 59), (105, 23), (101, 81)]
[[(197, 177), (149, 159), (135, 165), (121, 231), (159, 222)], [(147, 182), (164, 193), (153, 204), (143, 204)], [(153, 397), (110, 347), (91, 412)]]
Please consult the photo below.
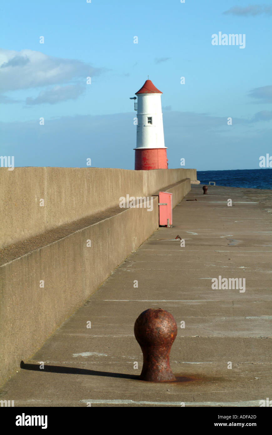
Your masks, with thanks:
[[(151, 80), (135, 93), (137, 109), (137, 144), (135, 150), (135, 170), (167, 169), (165, 139), (163, 134), (161, 94)], [(136, 99), (133, 97), (131, 99)]]

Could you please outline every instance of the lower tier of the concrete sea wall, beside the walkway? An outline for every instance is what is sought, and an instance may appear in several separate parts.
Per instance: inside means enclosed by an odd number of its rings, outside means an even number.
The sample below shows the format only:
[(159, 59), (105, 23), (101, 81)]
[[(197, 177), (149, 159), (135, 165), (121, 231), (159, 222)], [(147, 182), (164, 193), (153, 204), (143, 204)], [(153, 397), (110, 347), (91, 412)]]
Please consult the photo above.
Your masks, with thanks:
[[(190, 188), (188, 178), (174, 184), (175, 201)], [(0, 250), (0, 385), (158, 228), (158, 197), (153, 210), (148, 204), (113, 207)]]

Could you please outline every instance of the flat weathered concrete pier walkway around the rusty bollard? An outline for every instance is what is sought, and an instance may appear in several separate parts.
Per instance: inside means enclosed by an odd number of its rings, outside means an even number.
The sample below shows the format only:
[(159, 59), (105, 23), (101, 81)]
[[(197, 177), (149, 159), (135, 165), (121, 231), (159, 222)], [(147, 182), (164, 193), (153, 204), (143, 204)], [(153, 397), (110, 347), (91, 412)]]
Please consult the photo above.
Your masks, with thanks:
[[(259, 407), (271, 400), (271, 209), (271, 191), (209, 187), (203, 195), (193, 186), (173, 211), (173, 228), (155, 231), (131, 254), (0, 398), (15, 406)], [(212, 290), (218, 275), (245, 278), (245, 292)], [(185, 321), (170, 354), (177, 383), (137, 379), (142, 355), (133, 328), (147, 308)]]

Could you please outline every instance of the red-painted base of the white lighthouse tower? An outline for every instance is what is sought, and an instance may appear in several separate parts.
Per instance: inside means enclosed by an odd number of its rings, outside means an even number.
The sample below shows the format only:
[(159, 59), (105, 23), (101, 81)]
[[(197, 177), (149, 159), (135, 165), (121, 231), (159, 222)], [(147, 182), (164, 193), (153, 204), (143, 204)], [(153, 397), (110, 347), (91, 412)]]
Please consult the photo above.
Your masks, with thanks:
[(168, 159), (166, 148), (134, 148), (135, 171), (150, 171), (151, 169), (167, 169)]

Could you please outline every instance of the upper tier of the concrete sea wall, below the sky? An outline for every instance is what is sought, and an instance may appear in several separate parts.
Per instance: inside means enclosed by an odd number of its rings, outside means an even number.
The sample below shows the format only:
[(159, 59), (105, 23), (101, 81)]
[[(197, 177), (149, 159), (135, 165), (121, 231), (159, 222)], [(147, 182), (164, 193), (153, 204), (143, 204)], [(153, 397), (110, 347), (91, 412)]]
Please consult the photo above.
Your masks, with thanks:
[(126, 194), (148, 196), (184, 178), (196, 179), (196, 170), (1, 167), (0, 248), (116, 207)]

